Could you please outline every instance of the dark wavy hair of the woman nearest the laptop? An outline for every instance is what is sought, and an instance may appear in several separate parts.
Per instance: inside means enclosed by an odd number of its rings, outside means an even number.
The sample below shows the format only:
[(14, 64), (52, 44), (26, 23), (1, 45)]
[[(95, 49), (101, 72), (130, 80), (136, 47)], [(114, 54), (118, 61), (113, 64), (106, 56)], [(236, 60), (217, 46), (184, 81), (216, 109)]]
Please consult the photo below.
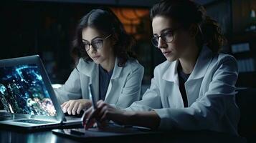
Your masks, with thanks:
[(112, 34), (117, 37), (113, 49), (114, 55), (118, 57), (118, 66), (125, 66), (130, 57), (136, 59), (136, 55), (131, 50), (131, 47), (135, 44), (135, 39), (127, 34), (118, 17), (108, 8), (93, 9), (80, 19), (71, 51), (74, 59), (83, 58), (85, 61), (93, 61), (83, 48), (82, 29), (86, 27), (93, 27), (103, 34)]

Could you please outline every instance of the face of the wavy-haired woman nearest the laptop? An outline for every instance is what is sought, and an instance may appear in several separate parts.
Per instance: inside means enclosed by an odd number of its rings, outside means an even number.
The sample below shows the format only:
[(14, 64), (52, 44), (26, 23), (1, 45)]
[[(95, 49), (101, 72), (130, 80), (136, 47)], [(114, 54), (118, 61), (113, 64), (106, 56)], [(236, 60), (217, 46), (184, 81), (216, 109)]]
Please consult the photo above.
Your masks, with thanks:
[(89, 26), (82, 29), (82, 42), (87, 44), (87, 54), (96, 64), (104, 64), (114, 56), (111, 35), (104, 35)]

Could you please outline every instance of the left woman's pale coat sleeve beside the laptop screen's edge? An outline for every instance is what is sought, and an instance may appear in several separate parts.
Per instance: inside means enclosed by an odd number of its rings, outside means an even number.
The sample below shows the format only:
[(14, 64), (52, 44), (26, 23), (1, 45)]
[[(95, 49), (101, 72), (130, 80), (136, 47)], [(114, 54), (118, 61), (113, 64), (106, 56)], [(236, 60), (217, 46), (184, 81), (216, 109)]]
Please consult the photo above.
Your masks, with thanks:
[(67, 102), (70, 99), (81, 99), (81, 85), (79, 71), (75, 68), (65, 84), (60, 89), (54, 89), (54, 92), (60, 104)]

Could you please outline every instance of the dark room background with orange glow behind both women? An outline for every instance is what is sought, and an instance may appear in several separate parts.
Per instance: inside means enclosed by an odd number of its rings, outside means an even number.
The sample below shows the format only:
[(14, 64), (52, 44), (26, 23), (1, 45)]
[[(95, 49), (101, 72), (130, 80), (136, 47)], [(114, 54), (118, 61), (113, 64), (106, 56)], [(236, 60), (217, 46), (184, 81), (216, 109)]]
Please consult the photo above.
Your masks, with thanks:
[[(157, 0), (30, 0), (0, 1), (0, 59), (39, 54), (44, 61), (52, 84), (64, 84), (72, 71), (74, 61), (70, 56), (72, 39), (79, 19), (91, 9), (108, 6), (125, 24), (128, 32), (136, 37), (133, 47), (138, 61), (145, 67), (143, 84), (150, 84), (153, 68), (165, 60), (161, 52), (151, 45), (150, 7)], [(256, 87), (255, 30), (250, 18), (256, 10), (254, 0), (197, 0), (210, 16), (221, 24), (229, 40), (223, 51), (237, 58), (240, 75), (237, 87)], [(129, 19), (130, 13), (141, 14)], [(138, 11), (137, 13), (134, 11)], [(143, 13), (142, 12), (142, 13)], [(131, 17), (131, 16), (130, 16)], [(239, 52), (232, 48), (238, 47)], [(238, 45), (238, 46), (237, 46)], [(247, 45), (247, 46), (244, 46)]]

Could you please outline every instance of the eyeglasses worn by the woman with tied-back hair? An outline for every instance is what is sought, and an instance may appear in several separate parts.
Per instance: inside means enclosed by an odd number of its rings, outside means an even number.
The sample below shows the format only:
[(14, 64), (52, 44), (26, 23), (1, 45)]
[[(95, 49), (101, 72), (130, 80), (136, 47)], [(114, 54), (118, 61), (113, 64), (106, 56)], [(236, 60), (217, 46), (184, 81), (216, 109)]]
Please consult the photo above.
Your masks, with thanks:
[[(177, 29), (179, 29), (179, 28), (177, 28)], [(174, 40), (174, 31), (176, 31), (177, 29), (172, 29), (172, 30), (169, 29), (168, 31), (161, 34), (160, 36), (157, 36), (157, 35), (153, 36), (153, 38), (151, 39), (153, 46), (156, 46), (158, 48), (160, 37), (166, 43), (170, 43), (171, 41), (173, 41)]]

